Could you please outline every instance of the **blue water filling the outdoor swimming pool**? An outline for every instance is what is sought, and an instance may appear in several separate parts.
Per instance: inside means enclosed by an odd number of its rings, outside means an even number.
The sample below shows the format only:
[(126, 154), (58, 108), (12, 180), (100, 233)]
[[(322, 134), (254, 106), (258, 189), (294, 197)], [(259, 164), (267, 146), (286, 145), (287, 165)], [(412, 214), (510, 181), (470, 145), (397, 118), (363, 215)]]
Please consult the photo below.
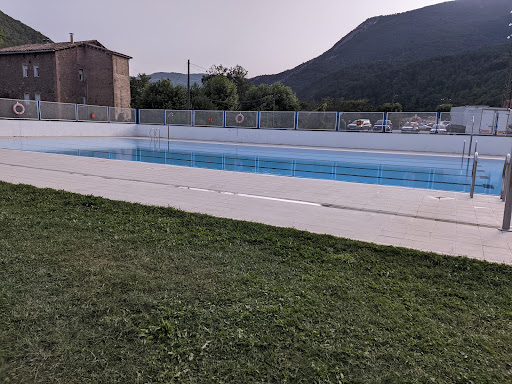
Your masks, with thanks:
[[(0, 148), (237, 172), (469, 192), (472, 159), (128, 138), (0, 139)], [(475, 193), (499, 195), (503, 160), (480, 159)]]

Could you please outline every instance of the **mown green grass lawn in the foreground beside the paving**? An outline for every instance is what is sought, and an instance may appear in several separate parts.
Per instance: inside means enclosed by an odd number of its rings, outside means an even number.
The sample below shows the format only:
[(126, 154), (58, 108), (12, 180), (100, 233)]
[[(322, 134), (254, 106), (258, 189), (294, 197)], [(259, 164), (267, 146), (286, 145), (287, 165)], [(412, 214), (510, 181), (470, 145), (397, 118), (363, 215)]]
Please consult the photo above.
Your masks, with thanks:
[(0, 183), (0, 381), (511, 383), (512, 267)]

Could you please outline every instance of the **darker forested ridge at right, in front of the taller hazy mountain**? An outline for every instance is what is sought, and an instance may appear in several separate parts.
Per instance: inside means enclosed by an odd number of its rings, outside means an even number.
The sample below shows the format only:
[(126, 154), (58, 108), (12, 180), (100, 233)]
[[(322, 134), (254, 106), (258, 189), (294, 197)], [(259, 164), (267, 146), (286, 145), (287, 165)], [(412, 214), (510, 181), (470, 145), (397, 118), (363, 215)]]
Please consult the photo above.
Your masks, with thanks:
[(433, 111), (440, 104), (502, 106), (510, 45), (412, 62), (344, 68), (311, 86), (303, 96), (399, 102), (406, 111)]

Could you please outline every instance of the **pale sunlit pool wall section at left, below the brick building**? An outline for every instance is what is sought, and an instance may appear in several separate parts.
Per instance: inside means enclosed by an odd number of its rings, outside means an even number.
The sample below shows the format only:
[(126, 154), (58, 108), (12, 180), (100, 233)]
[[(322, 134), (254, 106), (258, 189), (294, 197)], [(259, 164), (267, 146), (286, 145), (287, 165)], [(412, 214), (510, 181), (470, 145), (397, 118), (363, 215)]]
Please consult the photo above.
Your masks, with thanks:
[(0, 120), (0, 137), (136, 136), (136, 124), (75, 121)]

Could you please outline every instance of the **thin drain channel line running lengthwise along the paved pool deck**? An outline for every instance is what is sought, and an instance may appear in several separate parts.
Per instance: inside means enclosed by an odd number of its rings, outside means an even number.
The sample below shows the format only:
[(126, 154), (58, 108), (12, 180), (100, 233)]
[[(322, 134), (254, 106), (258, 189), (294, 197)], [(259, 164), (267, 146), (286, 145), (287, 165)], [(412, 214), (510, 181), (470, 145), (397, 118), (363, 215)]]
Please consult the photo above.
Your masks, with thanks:
[(469, 223), (466, 221), (458, 221), (458, 220), (450, 220), (450, 219), (437, 219), (434, 217), (414, 215), (414, 214), (408, 214), (408, 213), (392, 212), (392, 211), (386, 211), (386, 210), (381, 210), (381, 209), (355, 208), (355, 207), (350, 207), (348, 205), (339, 205), (339, 204), (331, 204), (331, 203), (315, 203), (315, 202), (304, 201), (304, 200), (283, 199), (283, 198), (277, 198), (277, 197), (271, 197), (271, 196), (252, 195), (252, 194), (246, 194), (246, 193), (222, 191), (222, 190), (217, 190), (217, 189), (198, 188), (198, 187), (190, 187), (187, 185), (162, 183), (162, 182), (158, 182), (158, 181), (146, 181), (146, 180), (138, 180), (138, 179), (130, 179), (130, 178), (111, 177), (111, 176), (95, 175), (95, 174), (90, 174), (90, 173), (85, 173), (85, 172), (63, 171), (63, 170), (58, 170), (58, 169), (34, 167), (34, 166), (20, 165), (20, 164), (10, 164), (10, 163), (3, 163), (3, 162), (0, 162), (0, 165), (5, 165), (8, 167), (10, 166), (10, 167), (15, 167), (15, 168), (16, 167), (17, 168), (29, 168), (29, 169), (57, 172), (57, 173), (67, 173), (70, 175), (82, 175), (82, 176), (87, 176), (87, 177), (97, 177), (97, 178), (106, 179), (106, 180), (122, 180), (122, 181), (132, 181), (132, 182), (151, 184), (151, 185), (163, 185), (163, 186), (173, 187), (173, 188), (177, 188), (177, 189), (188, 189), (188, 190), (197, 191), (197, 192), (207, 192), (207, 193), (213, 192), (213, 193), (219, 193), (219, 194), (223, 194), (223, 195), (232, 195), (232, 196), (239, 196), (239, 197), (246, 197), (246, 198), (257, 198), (257, 199), (263, 199), (263, 200), (273, 200), (273, 201), (280, 201), (280, 202), (285, 202), (285, 203), (310, 205), (310, 206), (323, 207), (323, 208), (349, 210), (349, 211), (356, 211), (356, 212), (377, 213), (377, 214), (390, 215), (390, 216), (409, 217), (409, 218), (415, 218), (415, 219), (430, 220), (430, 221), (434, 221), (434, 222), (437, 221), (437, 222), (443, 222), (443, 223), (469, 225), (469, 226), (473, 226), (473, 227), (483, 227), (483, 228), (491, 228), (491, 229), (499, 228), (498, 224), (489, 225), (489, 224)]

